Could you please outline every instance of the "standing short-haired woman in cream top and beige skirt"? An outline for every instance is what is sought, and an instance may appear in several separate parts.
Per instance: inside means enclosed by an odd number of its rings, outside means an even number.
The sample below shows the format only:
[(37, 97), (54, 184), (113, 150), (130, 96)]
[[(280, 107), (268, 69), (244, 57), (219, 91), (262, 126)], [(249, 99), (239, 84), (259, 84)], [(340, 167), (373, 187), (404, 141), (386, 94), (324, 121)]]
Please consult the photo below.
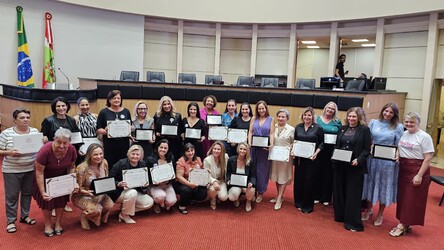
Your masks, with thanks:
[(284, 201), (284, 192), (287, 185), (293, 180), (293, 160), (290, 158), (290, 148), (294, 141), (294, 127), (287, 124), (290, 112), (281, 109), (277, 112), (277, 124), (274, 129), (274, 146), (288, 147), (287, 161), (271, 161), (270, 180), (276, 182), (277, 197), (271, 199), (275, 202), (274, 210), (281, 209)]

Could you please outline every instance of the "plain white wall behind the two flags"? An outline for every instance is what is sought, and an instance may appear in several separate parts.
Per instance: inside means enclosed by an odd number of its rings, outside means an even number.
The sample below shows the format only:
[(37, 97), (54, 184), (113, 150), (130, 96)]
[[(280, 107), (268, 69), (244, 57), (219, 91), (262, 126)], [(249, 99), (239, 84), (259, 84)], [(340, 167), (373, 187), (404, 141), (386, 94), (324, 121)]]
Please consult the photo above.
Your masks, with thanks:
[[(44, 14), (53, 16), (55, 66), (74, 87), (78, 77), (118, 79), (121, 70), (142, 73), (144, 17), (48, 0), (0, 0), (0, 83), (16, 85), (17, 14), (23, 7), (35, 86), (41, 87)], [(65, 77), (56, 72), (59, 82)]]

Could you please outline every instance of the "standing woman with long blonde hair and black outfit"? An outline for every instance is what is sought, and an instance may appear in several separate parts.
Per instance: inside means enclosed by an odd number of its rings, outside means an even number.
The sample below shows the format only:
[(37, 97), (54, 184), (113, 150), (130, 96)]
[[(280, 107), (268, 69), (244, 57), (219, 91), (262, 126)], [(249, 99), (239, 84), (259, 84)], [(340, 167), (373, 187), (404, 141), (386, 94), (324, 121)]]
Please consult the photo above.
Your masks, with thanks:
[(156, 142), (167, 139), (169, 151), (174, 159), (179, 159), (182, 150), (181, 134), (183, 124), (182, 115), (176, 112), (173, 100), (169, 96), (160, 98), (159, 107), (154, 115), (154, 128), (156, 131)]

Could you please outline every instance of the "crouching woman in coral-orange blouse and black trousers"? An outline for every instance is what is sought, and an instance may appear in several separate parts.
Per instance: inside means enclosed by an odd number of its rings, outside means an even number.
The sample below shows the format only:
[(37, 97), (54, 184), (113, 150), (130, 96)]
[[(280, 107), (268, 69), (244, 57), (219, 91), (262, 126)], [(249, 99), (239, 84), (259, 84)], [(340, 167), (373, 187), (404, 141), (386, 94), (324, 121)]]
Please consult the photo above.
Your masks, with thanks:
[[(191, 179), (190, 172), (194, 169), (203, 169), (203, 164), (200, 158), (196, 156), (194, 145), (187, 143), (183, 146), (183, 156), (176, 163), (177, 181), (173, 184), (174, 190), (180, 196), (179, 212), (181, 214), (188, 214), (187, 205), (190, 201), (203, 201), (207, 198), (206, 186), (210, 182), (209, 173), (207, 171), (196, 171), (196, 173), (200, 173), (200, 183), (193, 183), (189, 179)], [(207, 175), (204, 175), (205, 172)]]

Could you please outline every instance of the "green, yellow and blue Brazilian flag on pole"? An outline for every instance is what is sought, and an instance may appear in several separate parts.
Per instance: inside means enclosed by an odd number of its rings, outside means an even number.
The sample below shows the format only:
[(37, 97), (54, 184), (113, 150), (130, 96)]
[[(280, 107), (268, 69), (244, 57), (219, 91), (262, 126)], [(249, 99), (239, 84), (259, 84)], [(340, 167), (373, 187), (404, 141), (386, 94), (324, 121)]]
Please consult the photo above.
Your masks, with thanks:
[(28, 41), (26, 40), (25, 23), (23, 21), (23, 8), (17, 6), (17, 84), (19, 86), (34, 87), (31, 58), (29, 58)]

